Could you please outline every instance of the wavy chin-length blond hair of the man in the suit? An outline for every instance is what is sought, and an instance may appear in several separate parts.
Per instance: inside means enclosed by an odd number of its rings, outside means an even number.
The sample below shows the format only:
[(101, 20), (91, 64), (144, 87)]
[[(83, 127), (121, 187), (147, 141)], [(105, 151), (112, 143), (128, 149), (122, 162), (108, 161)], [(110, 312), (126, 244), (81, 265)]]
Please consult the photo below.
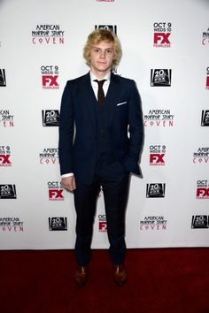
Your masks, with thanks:
[(112, 69), (120, 64), (122, 50), (119, 38), (112, 31), (99, 28), (89, 34), (87, 42), (83, 48), (83, 57), (86, 60), (86, 65), (90, 66), (90, 50), (94, 45), (100, 42), (113, 42), (114, 57), (112, 60)]

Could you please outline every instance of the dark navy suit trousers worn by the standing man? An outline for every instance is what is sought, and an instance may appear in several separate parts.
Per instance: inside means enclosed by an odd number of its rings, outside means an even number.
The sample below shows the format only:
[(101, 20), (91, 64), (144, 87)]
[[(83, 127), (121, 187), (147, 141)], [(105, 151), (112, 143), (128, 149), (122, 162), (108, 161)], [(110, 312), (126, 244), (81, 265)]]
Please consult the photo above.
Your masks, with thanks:
[(101, 187), (104, 193), (109, 253), (112, 263), (121, 264), (125, 260), (125, 214), (129, 173), (119, 161), (99, 162), (92, 184), (85, 185), (76, 180), (74, 190), (74, 206), (77, 215), (75, 256), (77, 263), (81, 266), (87, 265), (90, 261), (97, 196)]

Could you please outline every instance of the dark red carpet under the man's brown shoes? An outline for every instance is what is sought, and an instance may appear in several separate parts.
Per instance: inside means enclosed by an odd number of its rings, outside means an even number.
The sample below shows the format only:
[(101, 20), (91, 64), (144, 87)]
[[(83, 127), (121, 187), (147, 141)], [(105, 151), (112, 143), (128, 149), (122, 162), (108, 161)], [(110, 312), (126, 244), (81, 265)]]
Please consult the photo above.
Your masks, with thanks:
[(74, 284), (74, 252), (1, 251), (1, 313), (209, 313), (208, 248), (128, 249), (128, 281), (112, 281), (94, 250), (89, 282)]

